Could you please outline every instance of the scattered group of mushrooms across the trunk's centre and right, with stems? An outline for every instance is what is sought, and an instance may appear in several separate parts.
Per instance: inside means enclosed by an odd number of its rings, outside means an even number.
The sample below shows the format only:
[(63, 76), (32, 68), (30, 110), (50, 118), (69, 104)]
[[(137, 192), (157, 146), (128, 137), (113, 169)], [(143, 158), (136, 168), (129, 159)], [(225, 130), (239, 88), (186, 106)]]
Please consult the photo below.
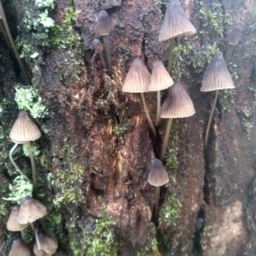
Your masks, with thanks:
[[(238, 44), (241, 39), (241, 32), (243, 30), (243, 24), (236, 24), (227, 36), (228, 50), (223, 58), (221, 52), (216, 53), (210, 61), (207, 69), (205, 70), (202, 79), (202, 92), (215, 91), (214, 104), (212, 105), (211, 115), (205, 131), (204, 145), (207, 147), (207, 141), (209, 136), (209, 129), (211, 125), (212, 115), (218, 99), (218, 90), (232, 89), (234, 83), (228, 72), (227, 63), (230, 60), (230, 56), (234, 49), (234, 46)], [(98, 17), (98, 31), (100, 35), (104, 36), (104, 47), (106, 55), (109, 61), (109, 44), (108, 35), (110, 32), (110, 20), (106, 11), (101, 11)], [(135, 58), (129, 69), (127, 76), (122, 87), (123, 92), (128, 93), (141, 93), (141, 99), (145, 114), (147, 116), (148, 124), (152, 130), (154, 137), (157, 137), (156, 128), (159, 125), (159, 118), (168, 118), (168, 124), (166, 126), (166, 132), (164, 135), (161, 155), (159, 159), (154, 161), (152, 170), (148, 175), (148, 182), (152, 186), (156, 186), (156, 205), (155, 205), (155, 218), (158, 216), (158, 204), (160, 187), (168, 182), (168, 174), (163, 166), (163, 158), (166, 153), (166, 147), (168, 145), (168, 138), (170, 134), (170, 128), (173, 118), (185, 118), (195, 114), (195, 108), (193, 102), (186, 92), (185, 88), (179, 81), (173, 83), (173, 79), (170, 76), (172, 67), (172, 52), (174, 39), (176, 36), (190, 36), (196, 33), (195, 27), (191, 24), (190, 20), (186, 16), (182, 5), (179, 0), (171, 0), (166, 7), (166, 13), (163, 19), (163, 25), (159, 33), (159, 42), (164, 40), (170, 40), (170, 51), (168, 56), (168, 70), (165, 69), (161, 61), (155, 61), (152, 67), (152, 74), (148, 71), (145, 63), (140, 58)], [(102, 65), (107, 68), (106, 62), (102, 55), (103, 46), (98, 39), (93, 41), (95, 45), (95, 51), (100, 54), (100, 60)], [(111, 65), (108, 65), (109, 74), (111, 74)], [(161, 106), (161, 90), (169, 88), (168, 97), (164, 100), (163, 106)], [(153, 124), (150, 115), (148, 113), (147, 104), (145, 102), (145, 92), (157, 92), (157, 115), (156, 123)]]

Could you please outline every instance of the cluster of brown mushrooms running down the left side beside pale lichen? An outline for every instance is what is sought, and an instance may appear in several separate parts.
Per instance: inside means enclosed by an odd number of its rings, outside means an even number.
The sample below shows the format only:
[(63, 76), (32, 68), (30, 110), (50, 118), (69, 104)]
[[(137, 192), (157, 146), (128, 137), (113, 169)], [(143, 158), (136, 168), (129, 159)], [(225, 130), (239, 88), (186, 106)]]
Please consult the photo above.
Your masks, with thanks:
[[(40, 138), (41, 132), (37, 125), (26, 111), (20, 111), (17, 120), (14, 122), (12, 129), (10, 131), (10, 138), (15, 143), (13, 148), (10, 150), (10, 160), (12, 161), (15, 169), (28, 180), (28, 182), (33, 183), (34, 192), (36, 191), (36, 170), (35, 161), (33, 158), (33, 153), (31, 150), (30, 141), (37, 140)], [(33, 182), (20, 170), (20, 168), (15, 164), (12, 153), (13, 150), (19, 145), (27, 143), (29, 148), (29, 155), (31, 157), (31, 168)], [(47, 214), (46, 207), (31, 198), (26, 196), (23, 198), (20, 205), (15, 205), (12, 208), (10, 216), (7, 221), (7, 229), (10, 231), (20, 231), (22, 239), (15, 239), (12, 244), (12, 249), (9, 252), (9, 256), (30, 256), (31, 252), (26, 244), (26, 237), (24, 235), (24, 229), (29, 225), (31, 226), (33, 232), (35, 233), (36, 243), (33, 247), (33, 252), (36, 256), (49, 256), (56, 252), (58, 248), (58, 242), (55, 237), (47, 236), (44, 232), (38, 232), (38, 228), (35, 228), (34, 222), (43, 218)]]

